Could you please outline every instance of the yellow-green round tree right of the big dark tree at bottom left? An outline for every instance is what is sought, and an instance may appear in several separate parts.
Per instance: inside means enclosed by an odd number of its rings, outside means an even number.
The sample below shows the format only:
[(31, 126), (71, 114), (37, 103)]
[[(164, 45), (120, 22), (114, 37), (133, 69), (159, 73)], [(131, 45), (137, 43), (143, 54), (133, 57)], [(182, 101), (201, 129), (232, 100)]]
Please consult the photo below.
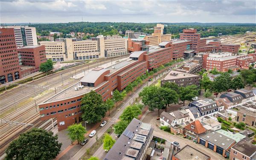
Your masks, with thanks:
[(70, 140), (72, 140), (72, 142), (77, 140), (78, 143), (84, 140), (84, 134), (87, 133), (86, 129), (82, 126), (81, 123), (68, 126), (67, 131), (67, 135)]

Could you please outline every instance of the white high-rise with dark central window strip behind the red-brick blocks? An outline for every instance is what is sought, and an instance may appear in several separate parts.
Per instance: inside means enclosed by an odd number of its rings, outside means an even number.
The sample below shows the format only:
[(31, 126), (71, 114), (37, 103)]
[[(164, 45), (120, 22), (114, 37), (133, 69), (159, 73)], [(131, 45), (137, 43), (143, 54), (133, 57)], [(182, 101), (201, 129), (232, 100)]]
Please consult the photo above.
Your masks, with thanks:
[(38, 45), (35, 27), (5, 26), (5, 28), (14, 29), (15, 41), (16, 41), (17, 47), (37, 46)]

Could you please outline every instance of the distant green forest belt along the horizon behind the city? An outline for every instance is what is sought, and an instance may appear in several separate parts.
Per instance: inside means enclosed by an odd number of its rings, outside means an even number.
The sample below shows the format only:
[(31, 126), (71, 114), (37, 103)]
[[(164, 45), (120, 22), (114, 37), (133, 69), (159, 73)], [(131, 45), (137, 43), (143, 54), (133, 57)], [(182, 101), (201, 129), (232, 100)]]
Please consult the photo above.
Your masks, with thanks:
[[(256, 31), (254, 23), (162, 23), (168, 25), (167, 33), (172, 33), (172, 37), (179, 38), (179, 33), (186, 28), (195, 28), (202, 37), (222, 35), (244, 34), (246, 31)], [(125, 30), (134, 32), (152, 33), (150, 30), (156, 23), (112, 23), (112, 22), (71, 22), (71, 23), (41, 23), (31, 24), (36, 27), (38, 34), (49, 35), (49, 32), (70, 32), (93, 33), (97, 35), (116, 35), (119, 31), (125, 34)], [(122, 35), (123, 35), (122, 34)]]

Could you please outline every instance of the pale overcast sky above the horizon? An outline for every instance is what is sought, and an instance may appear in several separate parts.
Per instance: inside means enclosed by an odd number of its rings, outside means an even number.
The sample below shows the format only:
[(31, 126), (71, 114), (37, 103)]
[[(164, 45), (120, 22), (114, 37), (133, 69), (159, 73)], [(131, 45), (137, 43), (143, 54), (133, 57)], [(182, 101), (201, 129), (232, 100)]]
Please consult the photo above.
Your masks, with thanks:
[(256, 0), (0, 0), (0, 23), (256, 23)]

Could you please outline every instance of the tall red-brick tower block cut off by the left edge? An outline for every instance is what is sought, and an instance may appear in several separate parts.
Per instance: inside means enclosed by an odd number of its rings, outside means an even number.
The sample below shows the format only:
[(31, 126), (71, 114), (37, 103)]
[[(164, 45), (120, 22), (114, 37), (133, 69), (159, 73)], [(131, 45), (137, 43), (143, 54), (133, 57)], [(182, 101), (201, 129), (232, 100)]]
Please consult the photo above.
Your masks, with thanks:
[(0, 83), (14, 81), (20, 78), (20, 66), (12, 28), (0, 28)]

